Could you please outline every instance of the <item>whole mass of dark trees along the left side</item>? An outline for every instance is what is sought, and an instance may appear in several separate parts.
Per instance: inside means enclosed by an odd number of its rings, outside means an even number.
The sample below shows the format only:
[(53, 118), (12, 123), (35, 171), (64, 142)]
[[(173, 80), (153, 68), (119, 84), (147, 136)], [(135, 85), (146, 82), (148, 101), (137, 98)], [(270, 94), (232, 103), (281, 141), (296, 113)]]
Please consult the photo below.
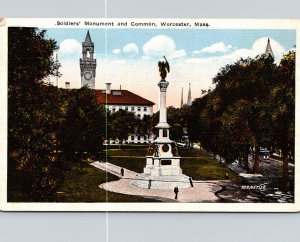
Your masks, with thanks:
[(105, 111), (92, 90), (45, 85), (60, 75), (55, 40), (37, 28), (8, 29), (8, 201), (52, 201), (66, 153), (95, 152)]

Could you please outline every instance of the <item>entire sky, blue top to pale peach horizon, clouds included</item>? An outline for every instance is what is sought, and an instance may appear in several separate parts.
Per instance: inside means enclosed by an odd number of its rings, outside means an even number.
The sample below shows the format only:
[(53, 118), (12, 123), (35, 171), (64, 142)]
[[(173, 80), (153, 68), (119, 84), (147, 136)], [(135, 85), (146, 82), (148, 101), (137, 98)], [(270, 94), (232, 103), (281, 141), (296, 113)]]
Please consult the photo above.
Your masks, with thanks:
[[(296, 31), (286, 29), (91, 28), (89, 31), (97, 58), (96, 88), (102, 89), (105, 82), (112, 82), (112, 88), (122, 85), (157, 103), (157, 62), (166, 55), (171, 65), (168, 105), (177, 107), (181, 87), (185, 99), (188, 83), (192, 86), (192, 97), (199, 97), (202, 89), (211, 87), (211, 80), (221, 67), (241, 57), (263, 54), (268, 38), (277, 62), (296, 44)], [(47, 33), (60, 45), (58, 58), (62, 77), (59, 85), (64, 86), (64, 82), (69, 81), (71, 87), (80, 87), (79, 58), (87, 29), (56, 28), (47, 29)]]

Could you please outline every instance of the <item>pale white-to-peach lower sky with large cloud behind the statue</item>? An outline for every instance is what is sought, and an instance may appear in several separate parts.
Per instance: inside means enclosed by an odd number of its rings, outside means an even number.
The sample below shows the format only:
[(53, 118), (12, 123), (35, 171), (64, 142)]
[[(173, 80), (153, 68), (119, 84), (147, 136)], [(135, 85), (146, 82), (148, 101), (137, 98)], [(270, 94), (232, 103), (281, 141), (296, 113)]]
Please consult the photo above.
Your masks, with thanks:
[[(212, 86), (212, 78), (216, 76), (220, 68), (236, 62), (241, 57), (253, 58), (263, 54), (268, 39), (267, 37), (257, 39), (253, 41), (252, 46), (249, 48), (232, 48), (231, 51), (224, 52), (219, 56), (199, 55), (187, 57), (185, 50), (176, 48), (173, 39), (165, 35), (160, 36), (163, 37), (156, 38), (159, 36), (155, 36), (145, 43), (142, 50), (144, 55), (138, 61), (121, 59), (120, 55), (112, 55), (108, 59), (105, 59), (104, 54), (98, 53), (96, 88), (104, 89), (104, 83), (109, 80), (109, 82), (112, 82), (112, 88), (119, 88), (122, 85), (122, 89), (130, 90), (158, 103), (159, 89), (157, 82), (160, 80), (160, 76), (157, 61), (165, 54), (168, 59), (170, 58), (169, 63), (171, 65), (171, 72), (167, 76), (167, 80), (170, 82), (167, 92), (167, 105), (179, 107), (181, 87), (184, 89), (184, 102), (187, 101), (189, 83), (192, 86), (192, 98), (200, 97), (202, 89), (207, 90)], [(271, 39), (270, 41), (275, 54), (275, 60), (279, 62), (286, 50), (276, 40)], [(164, 47), (161, 47), (161, 45)], [(79, 50), (81, 52), (81, 46)], [(123, 53), (123, 48), (119, 50)], [(180, 61), (171, 61), (171, 56), (174, 59), (179, 59), (182, 56), (185, 58), (180, 59)], [(63, 76), (59, 78), (59, 86), (63, 87), (65, 82), (68, 81), (71, 82), (71, 88), (80, 87), (81, 78), (78, 62), (80, 57), (81, 53), (73, 61), (59, 58), (59, 61), (62, 63), (61, 73), (63, 73)], [(156, 59), (153, 57), (159, 58)], [(143, 78), (141, 79), (141, 77)], [(53, 81), (55, 82), (55, 78), (53, 78)]]

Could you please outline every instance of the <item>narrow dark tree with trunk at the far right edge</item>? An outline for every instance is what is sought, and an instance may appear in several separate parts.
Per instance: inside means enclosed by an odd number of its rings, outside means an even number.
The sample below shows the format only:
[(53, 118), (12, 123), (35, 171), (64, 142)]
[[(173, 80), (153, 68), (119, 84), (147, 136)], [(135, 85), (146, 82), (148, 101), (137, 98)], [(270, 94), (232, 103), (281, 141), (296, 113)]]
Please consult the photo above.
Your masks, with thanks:
[(289, 157), (295, 149), (295, 52), (290, 51), (278, 66), (276, 85), (271, 90), (273, 145), (283, 154), (283, 187), (289, 188)]

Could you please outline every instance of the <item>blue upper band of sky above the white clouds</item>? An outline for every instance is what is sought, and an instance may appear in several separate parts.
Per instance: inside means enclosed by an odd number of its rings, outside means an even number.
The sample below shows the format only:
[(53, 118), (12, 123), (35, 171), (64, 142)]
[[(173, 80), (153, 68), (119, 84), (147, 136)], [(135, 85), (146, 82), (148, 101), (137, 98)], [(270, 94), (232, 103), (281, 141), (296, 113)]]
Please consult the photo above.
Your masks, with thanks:
[[(89, 31), (95, 43), (95, 53), (105, 54), (105, 29), (90, 29)], [(86, 32), (87, 29), (47, 29), (48, 36), (56, 39), (58, 44), (66, 39), (75, 39), (81, 43), (84, 41)], [(266, 36), (278, 41), (285, 49), (291, 49), (295, 45), (294, 30), (108, 29), (108, 54), (111, 55), (113, 49), (122, 48), (128, 43), (135, 43), (141, 48), (149, 39), (157, 35), (170, 36), (176, 42), (177, 48), (186, 50), (188, 55), (216, 42), (224, 42), (235, 48), (250, 48), (254, 40)], [(142, 52), (135, 57), (138, 58), (141, 55)]]

